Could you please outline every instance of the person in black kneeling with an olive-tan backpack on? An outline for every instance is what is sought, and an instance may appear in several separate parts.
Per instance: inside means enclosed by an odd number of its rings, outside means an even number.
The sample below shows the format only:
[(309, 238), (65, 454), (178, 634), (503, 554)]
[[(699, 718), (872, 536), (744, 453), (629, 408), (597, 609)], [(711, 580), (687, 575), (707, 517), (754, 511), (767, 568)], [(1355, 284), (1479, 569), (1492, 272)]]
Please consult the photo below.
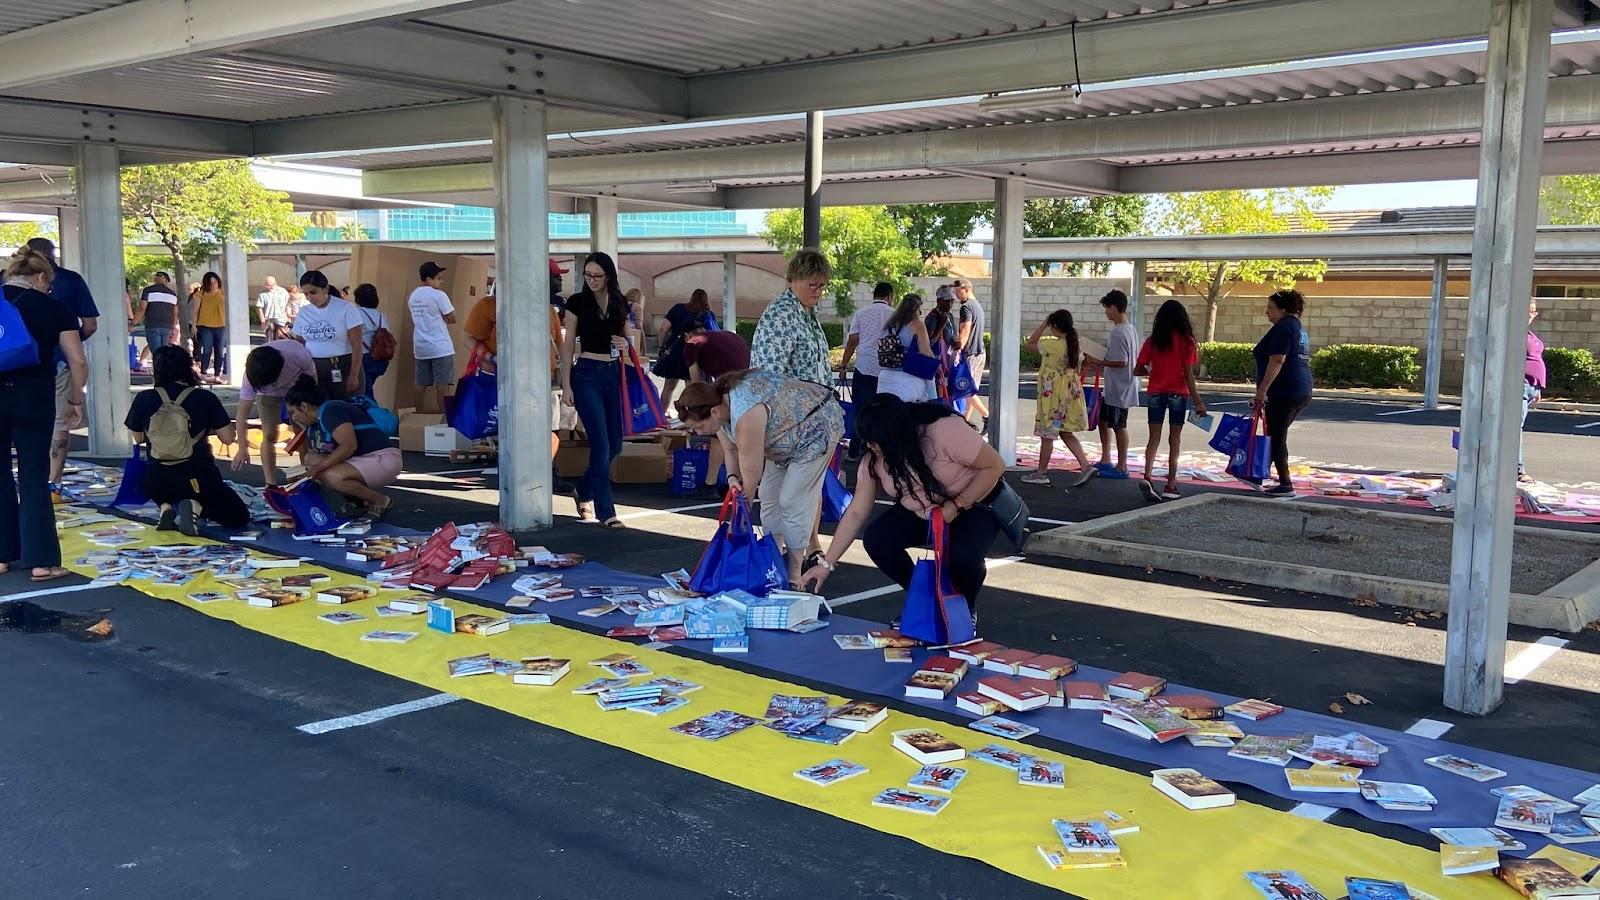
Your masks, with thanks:
[(198, 533), (197, 519), (224, 528), (243, 528), (250, 511), (211, 456), (210, 436), (234, 444), (234, 420), (216, 394), (200, 388), (194, 359), (181, 346), (150, 354), (155, 386), (141, 391), (123, 421), (136, 442), (149, 447), (149, 463), (139, 487), (162, 508), (157, 530)]

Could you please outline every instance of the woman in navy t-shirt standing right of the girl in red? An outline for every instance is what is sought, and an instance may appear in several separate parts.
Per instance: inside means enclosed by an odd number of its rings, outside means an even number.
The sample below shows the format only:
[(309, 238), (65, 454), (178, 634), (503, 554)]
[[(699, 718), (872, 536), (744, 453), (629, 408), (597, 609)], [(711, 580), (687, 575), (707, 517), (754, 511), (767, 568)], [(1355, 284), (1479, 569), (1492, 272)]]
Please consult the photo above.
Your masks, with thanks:
[(1256, 412), (1266, 420), (1272, 439), (1272, 466), (1278, 484), (1272, 496), (1294, 496), (1290, 482), (1290, 424), (1310, 404), (1310, 338), (1301, 325), (1306, 296), (1280, 290), (1267, 298), (1272, 328), (1256, 343)]

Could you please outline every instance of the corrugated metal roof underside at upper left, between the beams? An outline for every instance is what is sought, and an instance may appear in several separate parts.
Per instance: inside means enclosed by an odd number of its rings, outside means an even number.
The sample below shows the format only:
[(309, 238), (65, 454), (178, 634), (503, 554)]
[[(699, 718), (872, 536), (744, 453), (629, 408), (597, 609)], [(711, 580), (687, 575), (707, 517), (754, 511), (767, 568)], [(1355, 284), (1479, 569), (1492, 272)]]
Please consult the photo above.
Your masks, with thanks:
[(160, 109), (178, 115), (269, 122), (333, 112), (464, 99), (458, 93), (270, 64), (237, 56), (186, 56), (16, 90), (18, 96), (91, 106)]

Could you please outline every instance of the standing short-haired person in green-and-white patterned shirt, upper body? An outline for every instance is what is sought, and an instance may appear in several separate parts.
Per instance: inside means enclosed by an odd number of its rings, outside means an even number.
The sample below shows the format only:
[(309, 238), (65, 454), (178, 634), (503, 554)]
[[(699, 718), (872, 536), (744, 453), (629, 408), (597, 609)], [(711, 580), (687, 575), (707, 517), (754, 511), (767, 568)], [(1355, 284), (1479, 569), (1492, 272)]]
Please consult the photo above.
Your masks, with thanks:
[(755, 325), (755, 340), (750, 341), (752, 368), (814, 384), (832, 383), (827, 335), (816, 317), (816, 304), (832, 277), (834, 267), (827, 256), (816, 250), (802, 250), (789, 258), (789, 288), (766, 304)]

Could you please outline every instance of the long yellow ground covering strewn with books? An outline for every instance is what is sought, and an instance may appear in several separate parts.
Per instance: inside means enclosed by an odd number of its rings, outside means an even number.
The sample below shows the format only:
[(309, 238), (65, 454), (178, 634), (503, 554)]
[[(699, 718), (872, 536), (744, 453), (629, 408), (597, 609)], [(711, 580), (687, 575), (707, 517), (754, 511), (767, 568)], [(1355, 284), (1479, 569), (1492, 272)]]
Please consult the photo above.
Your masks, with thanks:
[[(139, 532), (147, 544), (195, 543), (181, 535)], [(67, 560), (98, 549), (77, 533), (64, 533), (62, 556)], [(83, 575), (93, 570), (75, 567)], [(290, 570), (262, 573), (285, 575)], [(302, 572), (328, 572), (325, 585), (363, 583), (355, 577), (307, 565)], [(397, 591), (382, 591), (368, 599), (339, 607), (306, 601), (301, 604), (258, 609), (240, 602), (192, 604), (190, 593), (221, 591), (210, 577), (184, 586), (130, 583), (150, 596), (192, 605), (210, 617), (283, 641), (331, 653), (395, 677), (445, 690), (467, 700), (502, 709), (640, 756), (699, 772), (720, 781), (758, 791), (808, 809), (866, 825), (890, 834), (910, 838), (920, 844), (982, 860), (1002, 871), (1037, 881), (1088, 898), (1157, 900), (1184, 897), (1254, 898), (1245, 882), (1246, 870), (1298, 870), (1328, 897), (1344, 895), (1344, 876), (1366, 876), (1405, 881), (1442, 900), (1502, 900), (1506, 887), (1493, 876), (1472, 874), (1445, 878), (1438, 873), (1438, 855), (1390, 841), (1312, 822), (1269, 807), (1240, 802), (1234, 807), (1189, 812), (1150, 786), (1149, 778), (1088, 762), (1040, 748), (992, 738), (970, 729), (891, 711), (888, 721), (869, 733), (856, 735), (840, 746), (826, 746), (786, 738), (755, 727), (720, 741), (704, 741), (667, 730), (670, 725), (714, 713), (734, 709), (760, 716), (773, 693), (816, 693), (803, 685), (754, 676), (730, 668), (646, 650), (560, 625), (515, 626), (507, 634), (475, 637), (442, 634), (424, 628), (424, 617), (379, 618), (374, 609)], [(459, 604), (466, 607), (467, 604)], [(368, 621), (333, 625), (317, 618), (331, 610), (358, 612)], [(362, 641), (368, 631), (418, 631), (406, 644), (374, 644)], [(515, 660), (550, 655), (573, 660), (573, 671), (555, 687), (526, 687), (510, 677), (450, 677), (446, 660), (475, 653), (493, 653)], [(690, 705), (666, 716), (632, 711), (603, 713), (592, 697), (571, 689), (598, 677), (600, 669), (589, 660), (608, 653), (634, 653), (658, 676), (674, 676), (702, 684), (688, 695)], [(352, 709), (357, 713), (358, 709)], [(957, 762), (968, 769), (949, 804), (936, 817), (878, 809), (870, 799), (888, 786), (904, 786), (918, 765), (890, 746), (890, 732), (930, 727), (950, 740), (979, 748), (1002, 743), (1022, 748), (1034, 756), (1064, 761), (1066, 790), (1027, 788), (1016, 775), (984, 762)], [(1091, 724), (1088, 727), (1101, 727)], [(832, 757), (845, 757), (869, 772), (848, 781), (822, 788), (802, 781), (794, 772)], [(1038, 844), (1054, 844), (1051, 818), (1117, 810), (1141, 825), (1138, 834), (1120, 838), (1128, 868), (1051, 871), (1038, 857)], [(840, 863), (848, 862), (848, 852)]]

